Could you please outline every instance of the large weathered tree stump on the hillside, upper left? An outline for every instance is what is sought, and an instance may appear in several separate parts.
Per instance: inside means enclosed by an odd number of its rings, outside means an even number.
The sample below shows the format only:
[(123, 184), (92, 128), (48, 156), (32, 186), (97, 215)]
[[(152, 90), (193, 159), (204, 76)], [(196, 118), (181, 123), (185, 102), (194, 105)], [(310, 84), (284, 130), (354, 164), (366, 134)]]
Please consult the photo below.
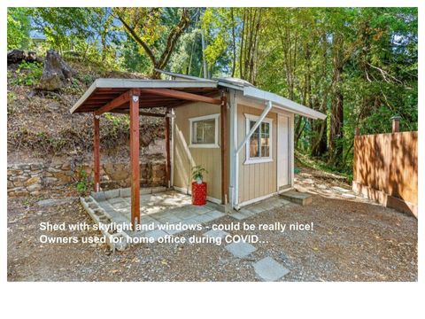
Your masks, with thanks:
[(40, 89), (61, 89), (72, 79), (73, 74), (73, 69), (66, 64), (58, 52), (49, 50), (44, 59)]

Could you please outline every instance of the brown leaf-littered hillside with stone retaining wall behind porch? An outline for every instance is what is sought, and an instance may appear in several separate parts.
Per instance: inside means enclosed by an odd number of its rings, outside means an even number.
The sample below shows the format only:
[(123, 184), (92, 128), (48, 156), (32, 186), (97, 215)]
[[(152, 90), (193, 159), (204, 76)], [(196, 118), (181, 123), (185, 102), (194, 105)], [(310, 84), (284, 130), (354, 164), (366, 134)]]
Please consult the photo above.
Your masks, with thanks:
[[(73, 70), (66, 85), (57, 90), (41, 89), (43, 58), (8, 61), (7, 140), (10, 164), (72, 158), (91, 160), (93, 128), (91, 114), (70, 114), (69, 109), (97, 78), (143, 78), (142, 74), (104, 69), (104, 66), (65, 58)], [(103, 161), (128, 160), (128, 116), (105, 114), (101, 118)], [(141, 118), (141, 156), (161, 158), (163, 121)]]

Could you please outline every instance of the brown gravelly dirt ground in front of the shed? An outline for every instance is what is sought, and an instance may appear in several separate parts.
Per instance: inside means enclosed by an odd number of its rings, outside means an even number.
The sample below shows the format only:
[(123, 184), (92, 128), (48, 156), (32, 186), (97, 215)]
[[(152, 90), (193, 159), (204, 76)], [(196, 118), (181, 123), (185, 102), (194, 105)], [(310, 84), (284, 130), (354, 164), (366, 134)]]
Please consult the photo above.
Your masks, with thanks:
[[(331, 189), (331, 179), (304, 170), (298, 184)], [(305, 180), (307, 180), (305, 182)], [(311, 183), (313, 180), (313, 183)], [(313, 195), (310, 206), (291, 205), (243, 222), (311, 223), (312, 231), (259, 231), (262, 243), (238, 259), (214, 244), (143, 244), (111, 253), (105, 244), (41, 244), (40, 222), (88, 222), (78, 198), (39, 206), (39, 198), (8, 199), (9, 281), (259, 281), (252, 263), (270, 256), (290, 273), (282, 281), (417, 281), (417, 220), (358, 198)], [(50, 196), (63, 198), (64, 194)], [(238, 222), (224, 216), (212, 223)], [(230, 234), (252, 234), (238, 230)], [(61, 236), (98, 236), (93, 230)]]

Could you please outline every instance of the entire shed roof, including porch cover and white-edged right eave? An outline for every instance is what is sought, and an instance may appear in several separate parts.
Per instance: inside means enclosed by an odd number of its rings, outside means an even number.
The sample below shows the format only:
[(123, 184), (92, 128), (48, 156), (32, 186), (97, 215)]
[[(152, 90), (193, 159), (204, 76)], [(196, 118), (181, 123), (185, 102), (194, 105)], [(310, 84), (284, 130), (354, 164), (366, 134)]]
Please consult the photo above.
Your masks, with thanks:
[[(73, 105), (71, 113), (95, 112), (107, 103), (120, 97), (129, 89), (143, 89), (143, 98), (140, 99), (141, 108), (176, 107), (188, 103), (188, 98), (177, 94), (158, 95), (149, 89), (168, 89), (169, 92), (184, 92), (196, 94), (200, 97), (214, 97), (220, 94), (220, 89), (236, 89), (243, 92), (243, 96), (259, 101), (271, 101), (274, 107), (297, 113), (312, 119), (326, 118), (326, 114), (315, 111), (305, 105), (300, 105), (288, 98), (257, 89), (250, 82), (236, 78), (202, 79), (196, 76), (175, 74), (157, 70), (174, 78), (174, 80), (133, 80), (133, 79), (97, 79), (82, 97)], [(190, 99), (189, 99), (190, 100)], [(128, 101), (113, 108), (110, 112), (123, 113), (128, 110)]]

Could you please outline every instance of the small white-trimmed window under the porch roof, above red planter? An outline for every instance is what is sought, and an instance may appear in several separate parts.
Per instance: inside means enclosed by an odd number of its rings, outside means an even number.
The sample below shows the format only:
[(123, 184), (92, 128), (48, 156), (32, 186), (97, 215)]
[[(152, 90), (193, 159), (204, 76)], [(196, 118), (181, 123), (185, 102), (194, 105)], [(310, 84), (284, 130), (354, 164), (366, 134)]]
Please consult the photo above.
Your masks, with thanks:
[(219, 147), (219, 117), (220, 113), (189, 119), (189, 147)]

